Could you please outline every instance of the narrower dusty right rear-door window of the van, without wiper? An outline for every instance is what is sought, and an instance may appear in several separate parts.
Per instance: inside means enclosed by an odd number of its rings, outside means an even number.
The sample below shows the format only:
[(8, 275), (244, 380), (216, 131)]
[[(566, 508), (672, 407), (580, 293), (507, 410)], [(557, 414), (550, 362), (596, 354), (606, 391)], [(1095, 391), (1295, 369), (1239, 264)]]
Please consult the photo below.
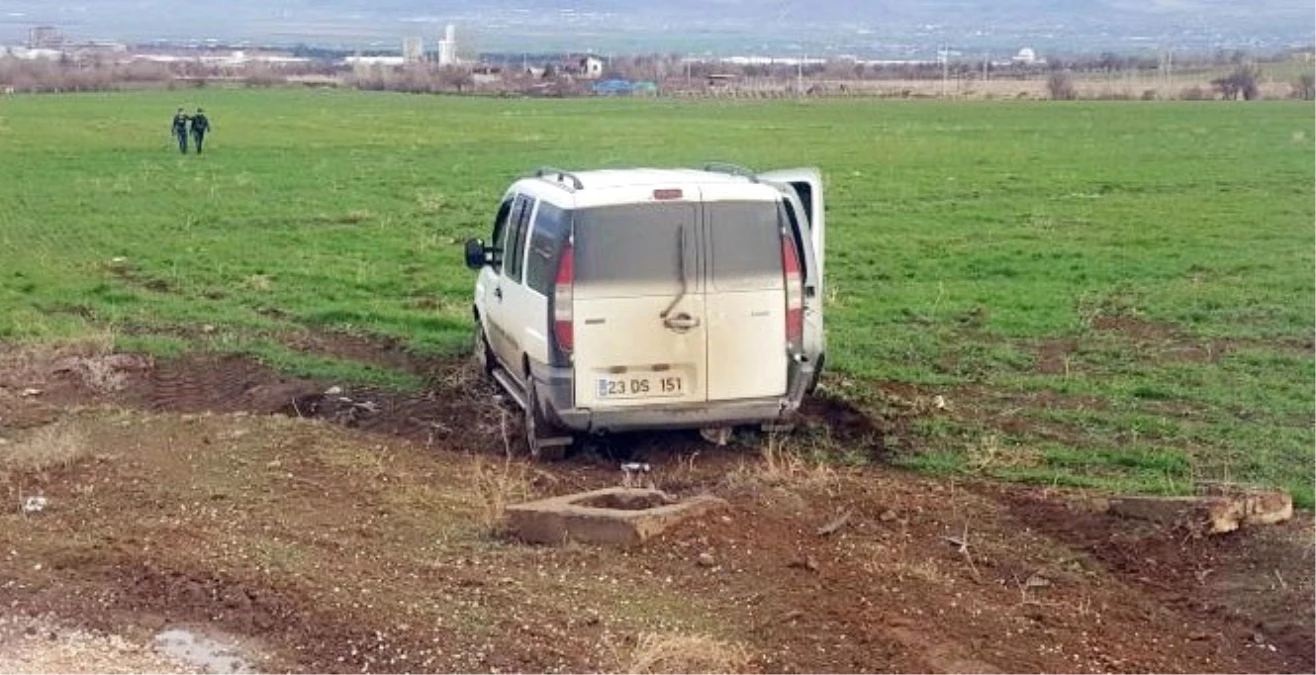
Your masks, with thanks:
[(704, 205), (712, 242), (716, 291), (782, 288), (782, 212), (775, 201), (712, 201)]

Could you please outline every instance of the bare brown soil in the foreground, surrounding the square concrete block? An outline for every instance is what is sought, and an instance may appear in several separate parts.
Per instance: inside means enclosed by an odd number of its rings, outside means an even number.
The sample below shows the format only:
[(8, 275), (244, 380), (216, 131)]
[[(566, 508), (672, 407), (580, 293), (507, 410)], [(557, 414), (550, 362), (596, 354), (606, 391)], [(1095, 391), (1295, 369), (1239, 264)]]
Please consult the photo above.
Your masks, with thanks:
[[(0, 514), (0, 609), (143, 643), (213, 626), (258, 643), (268, 671), (625, 672), (645, 636), (744, 650), (754, 672), (1316, 671), (1309, 517), (1194, 538), (1086, 495), (688, 434), (530, 464), (504, 457), (516, 416), (468, 368), (425, 367), (415, 396), (233, 357), (125, 368), (108, 388), (12, 368), (0, 457), (74, 451), (0, 464), (11, 504), (49, 500)], [(820, 400), (803, 433), (880, 459), (891, 424)], [(633, 549), (501, 530), (507, 501), (616, 484), (621, 457), (729, 507)]]

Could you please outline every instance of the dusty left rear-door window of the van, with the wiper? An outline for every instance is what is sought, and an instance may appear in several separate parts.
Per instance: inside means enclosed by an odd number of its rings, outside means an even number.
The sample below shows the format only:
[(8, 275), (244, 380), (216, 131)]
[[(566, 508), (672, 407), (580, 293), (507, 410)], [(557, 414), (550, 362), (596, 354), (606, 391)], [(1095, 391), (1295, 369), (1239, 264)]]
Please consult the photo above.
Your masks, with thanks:
[[(697, 205), (687, 201), (579, 209), (575, 287), (586, 297), (674, 295), (695, 284)], [(684, 229), (684, 234), (682, 230)]]

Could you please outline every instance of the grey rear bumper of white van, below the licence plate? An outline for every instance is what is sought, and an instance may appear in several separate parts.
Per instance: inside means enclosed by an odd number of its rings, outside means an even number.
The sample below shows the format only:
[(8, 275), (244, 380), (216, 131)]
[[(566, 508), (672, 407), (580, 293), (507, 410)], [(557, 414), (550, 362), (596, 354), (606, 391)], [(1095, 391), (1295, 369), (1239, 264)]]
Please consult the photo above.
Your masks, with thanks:
[(805, 389), (813, 382), (813, 364), (792, 363), (788, 391), (780, 397), (608, 409), (574, 407), (571, 368), (533, 367), (532, 376), (541, 409), (565, 429), (580, 433), (641, 432), (784, 422), (799, 411)]

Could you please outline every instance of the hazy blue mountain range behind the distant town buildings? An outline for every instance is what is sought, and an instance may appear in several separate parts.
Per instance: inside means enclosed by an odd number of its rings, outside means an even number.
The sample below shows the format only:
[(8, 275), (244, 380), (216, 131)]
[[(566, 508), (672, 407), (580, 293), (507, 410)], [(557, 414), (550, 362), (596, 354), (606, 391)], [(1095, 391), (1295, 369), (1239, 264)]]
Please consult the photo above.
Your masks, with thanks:
[(1312, 0), (0, 0), (0, 42), (75, 39), (395, 47), (459, 26), (467, 49), (915, 57), (957, 50), (1278, 49), (1316, 43)]

